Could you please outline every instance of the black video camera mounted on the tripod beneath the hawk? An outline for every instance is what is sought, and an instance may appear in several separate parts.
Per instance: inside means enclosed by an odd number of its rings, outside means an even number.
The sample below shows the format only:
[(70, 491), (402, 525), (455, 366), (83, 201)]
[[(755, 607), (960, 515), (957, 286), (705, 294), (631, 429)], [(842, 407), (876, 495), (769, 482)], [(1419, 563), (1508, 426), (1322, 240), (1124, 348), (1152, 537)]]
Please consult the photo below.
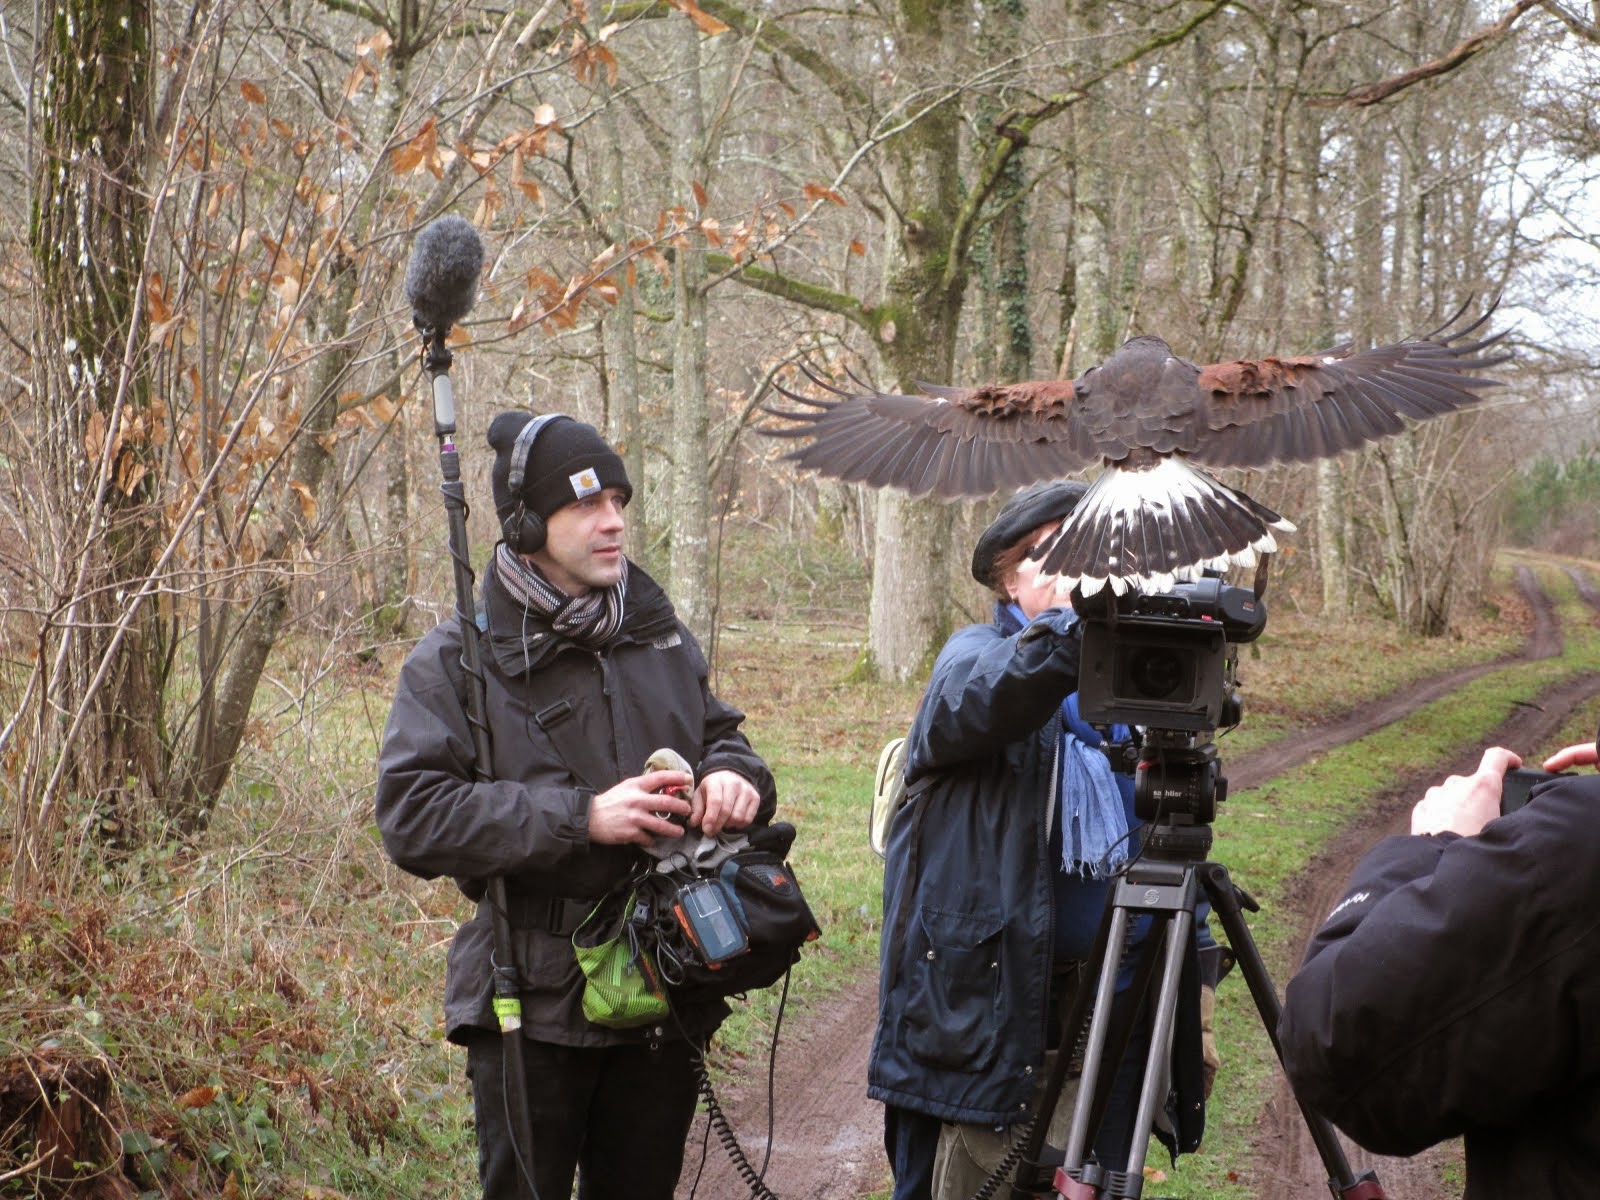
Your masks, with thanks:
[(1091, 725), (1144, 730), (1134, 811), (1213, 821), (1227, 779), (1211, 733), (1243, 715), (1238, 646), (1266, 629), (1266, 603), (1208, 573), (1166, 592), (1075, 590), (1072, 608), (1082, 621), (1078, 712)]

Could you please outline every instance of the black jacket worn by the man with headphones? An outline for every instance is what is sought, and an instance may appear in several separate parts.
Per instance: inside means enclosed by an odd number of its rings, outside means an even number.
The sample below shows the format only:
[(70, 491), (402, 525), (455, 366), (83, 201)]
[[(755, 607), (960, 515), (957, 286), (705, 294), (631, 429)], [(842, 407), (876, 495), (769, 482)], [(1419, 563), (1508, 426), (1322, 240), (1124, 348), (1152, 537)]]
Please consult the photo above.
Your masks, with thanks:
[[(514, 909), (562, 920), (515, 917), (523, 1029), (563, 1045), (637, 1040), (638, 1030), (590, 1024), (573, 954), (573, 914), (586, 912), (642, 861), (635, 846), (589, 840), (589, 802), (670, 746), (701, 779), (738, 771), (762, 794), (757, 821), (771, 819), (776, 789), (766, 763), (739, 733), (744, 714), (706, 682), (706, 659), (661, 587), (632, 566), (621, 632), (589, 650), (552, 634), (486, 573), (488, 632), (482, 640), (493, 763), (475, 778), (464, 699), (461, 632), (446, 621), (406, 658), (378, 760), (378, 829), (406, 870), (453, 875), (469, 894), (504, 875)], [(496, 1029), (490, 1011), (488, 914), (464, 923), (450, 949), (445, 1032)]]

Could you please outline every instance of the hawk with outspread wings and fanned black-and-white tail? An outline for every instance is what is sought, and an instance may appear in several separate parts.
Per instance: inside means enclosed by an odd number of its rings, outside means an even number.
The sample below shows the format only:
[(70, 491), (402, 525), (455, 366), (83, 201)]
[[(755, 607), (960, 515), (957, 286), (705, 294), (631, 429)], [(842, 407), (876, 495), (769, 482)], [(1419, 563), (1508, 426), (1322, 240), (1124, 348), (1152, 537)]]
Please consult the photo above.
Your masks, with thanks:
[(1398, 434), (1475, 403), (1494, 386), (1477, 371), (1510, 358), (1482, 336), (1493, 307), (1454, 328), (1374, 349), (1349, 342), (1320, 354), (1197, 366), (1160, 338), (1125, 342), (1077, 379), (982, 387), (918, 384), (923, 395), (845, 392), (813, 398), (779, 389), (798, 408), (766, 411), (763, 426), (803, 443), (784, 454), (850, 483), (946, 499), (989, 496), (1096, 464), (1090, 486), (1053, 542), (1043, 571), (1062, 594), (1110, 587), (1162, 592), (1203, 571), (1251, 566), (1293, 525), (1202, 467), (1310, 462)]

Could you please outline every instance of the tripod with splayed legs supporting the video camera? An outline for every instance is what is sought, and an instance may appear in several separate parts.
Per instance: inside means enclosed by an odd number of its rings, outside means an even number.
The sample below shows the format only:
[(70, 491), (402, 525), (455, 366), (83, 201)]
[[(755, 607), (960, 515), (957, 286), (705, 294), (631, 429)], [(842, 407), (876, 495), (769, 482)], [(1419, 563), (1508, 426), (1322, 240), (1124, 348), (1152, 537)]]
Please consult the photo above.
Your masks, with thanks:
[[(1214, 763), (1214, 747), (1210, 758)], [(1142, 768), (1141, 768), (1142, 771)], [(1142, 782), (1142, 781), (1141, 781)], [(1227, 782), (1218, 778), (1216, 792)], [(1061, 1200), (1101, 1200), (1102, 1197), (1128, 1197), (1138, 1200), (1144, 1189), (1144, 1155), (1149, 1131), (1157, 1110), (1163, 1107), (1171, 1062), (1173, 1032), (1176, 1029), (1179, 982), (1186, 950), (1194, 934), (1194, 912), (1205, 896), (1222, 922), (1229, 946), (1256, 1002), (1261, 1022), (1272, 1042), (1274, 1053), (1282, 1059), (1277, 1040), (1280, 1005), (1266, 963), (1245, 923), (1243, 909), (1258, 910), (1256, 902), (1229, 878), (1227, 867), (1206, 861), (1211, 850), (1211, 826), (1192, 814), (1158, 818), (1146, 827), (1146, 843), (1141, 856), (1118, 877), (1101, 920), (1099, 934), (1090, 962), (1099, 963), (1099, 976), (1091, 989), (1080, 987), (1062, 1022), (1061, 1053), (1045, 1083), (1040, 1118), (1034, 1123), (1027, 1144), (1021, 1152), (1016, 1171), (1014, 1195), (1038, 1195), (1045, 1186)], [(1107, 954), (1109, 946), (1123, 946), (1130, 923), (1139, 915), (1152, 917), (1142, 947), (1142, 962), (1133, 989), (1117, 1000), (1118, 957)], [(1099, 1126), (1110, 1094), (1112, 1077), (1131, 1038), (1133, 1016), (1141, 1002), (1149, 1000), (1149, 989), (1160, 965), (1160, 986), (1150, 1005), (1150, 1042), (1144, 1062), (1138, 1110), (1133, 1122), (1133, 1138), (1126, 1160), (1102, 1165), (1085, 1162), (1086, 1150)], [(1091, 997), (1093, 990), (1093, 997)], [(1093, 998), (1093, 1019), (1085, 1038), (1085, 1019)], [(1122, 1019), (1114, 1022), (1114, 1006)], [(1112, 1032), (1115, 1026), (1115, 1034)], [(1051, 1181), (1037, 1178), (1040, 1154), (1050, 1114), (1056, 1107), (1061, 1090), (1072, 1067), (1070, 1053), (1083, 1043), (1082, 1080), (1067, 1134), (1066, 1157), (1054, 1170)], [(1371, 1171), (1352, 1174), (1344, 1149), (1326, 1118), (1301, 1107), (1317, 1154), (1328, 1170), (1328, 1190), (1334, 1200), (1384, 1200), (1386, 1192)], [(1048, 1168), (1045, 1168), (1048, 1170)], [(1034, 1178), (1027, 1178), (1032, 1171)]]

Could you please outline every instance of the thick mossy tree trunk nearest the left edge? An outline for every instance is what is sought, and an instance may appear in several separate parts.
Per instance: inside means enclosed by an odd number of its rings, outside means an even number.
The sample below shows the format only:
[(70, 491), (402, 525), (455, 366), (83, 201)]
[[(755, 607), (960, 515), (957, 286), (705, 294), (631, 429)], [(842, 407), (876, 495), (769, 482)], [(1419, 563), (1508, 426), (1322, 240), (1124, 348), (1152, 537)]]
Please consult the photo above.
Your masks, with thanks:
[[(16, 882), (50, 869), (59, 800), (98, 808), (99, 829), (133, 837), (141, 784), (165, 773), (160, 694), (168, 635), (155, 605), (130, 603), (158, 555), (158, 474), (141, 354), (149, 200), (150, 6), (66, 0), (42, 37), (29, 250), (42, 346), (35, 397), (53, 512), (38, 634), (43, 686), (19, 794)], [(131, 616), (131, 619), (130, 619)]]

